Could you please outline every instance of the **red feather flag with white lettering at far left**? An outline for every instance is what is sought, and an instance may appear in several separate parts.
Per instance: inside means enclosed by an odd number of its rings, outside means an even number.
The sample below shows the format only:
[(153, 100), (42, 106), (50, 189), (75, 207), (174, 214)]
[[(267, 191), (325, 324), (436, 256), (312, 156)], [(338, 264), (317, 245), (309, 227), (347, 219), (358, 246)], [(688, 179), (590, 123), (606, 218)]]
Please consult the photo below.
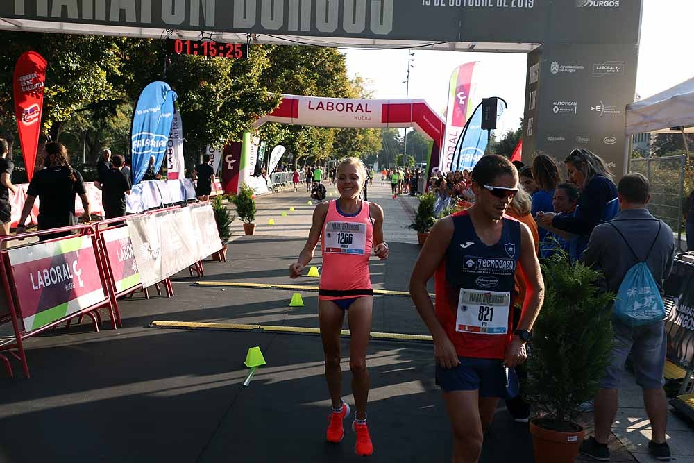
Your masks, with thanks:
[(47, 62), (35, 51), (27, 51), (15, 65), (14, 92), (15, 117), (19, 143), (29, 180), (34, 175), (36, 151), (41, 133), (44, 85), (46, 83)]

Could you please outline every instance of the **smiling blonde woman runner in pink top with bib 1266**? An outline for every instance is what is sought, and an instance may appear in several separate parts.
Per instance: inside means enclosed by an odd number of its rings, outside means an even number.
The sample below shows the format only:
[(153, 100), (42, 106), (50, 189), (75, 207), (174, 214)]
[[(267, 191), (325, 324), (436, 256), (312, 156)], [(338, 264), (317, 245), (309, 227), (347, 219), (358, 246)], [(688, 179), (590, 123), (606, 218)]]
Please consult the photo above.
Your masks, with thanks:
[(346, 313), (350, 328), (352, 391), (357, 408), (352, 423), (357, 435), (357, 455), (373, 453), (366, 426), (366, 402), (369, 398), (366, 345), (371, 332), (373, 307), (369, 256), (373, 249), (381, 260), (388, 257), (388, 245), (383, 241), (383, 210), (378, 204), (359, 199), (366, 180), (366, 169), (359, 159), (347, 158), (340, 163), (337, 167), (340, 198), (316, 206), (306, 245), (297, 262), (289, 266), (291, 278), (301, 275), (321, 239), (323, 270), (318, 310), (325, 353), (325, 379), (332, 400), (326, 436), (330, 442), (342, 440), (342, 421), (350, 410), (341, 399), (340, 381), (340, 332)]

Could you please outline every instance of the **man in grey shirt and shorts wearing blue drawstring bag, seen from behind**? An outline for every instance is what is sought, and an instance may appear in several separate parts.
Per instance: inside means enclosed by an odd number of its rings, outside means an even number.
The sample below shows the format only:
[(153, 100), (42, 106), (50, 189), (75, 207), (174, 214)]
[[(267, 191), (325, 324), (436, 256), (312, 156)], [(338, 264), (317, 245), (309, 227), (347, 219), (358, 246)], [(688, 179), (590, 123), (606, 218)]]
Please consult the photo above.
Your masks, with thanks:
[(595, 396), (595, 437), (583, 442), (581, 453), (609, 461), (607, 442), (617, 414), (620, 380), (631, 353), (652, 427), (648, 451), (657, 460), (667, 461), (668, 401), (663, 390), (667, 337), (661, 290), (672, 271), (675, 239), (670, 227), (646, 209), (650, 201), (647, 178), (641, 174), (624, 176), (618, 196), (620, 212), (612, 221), (595, 227), (582, 255), (586, 265), (604, 272), (607, 289), (615, 292), (617, 299), (611, 308), (612, 360)]

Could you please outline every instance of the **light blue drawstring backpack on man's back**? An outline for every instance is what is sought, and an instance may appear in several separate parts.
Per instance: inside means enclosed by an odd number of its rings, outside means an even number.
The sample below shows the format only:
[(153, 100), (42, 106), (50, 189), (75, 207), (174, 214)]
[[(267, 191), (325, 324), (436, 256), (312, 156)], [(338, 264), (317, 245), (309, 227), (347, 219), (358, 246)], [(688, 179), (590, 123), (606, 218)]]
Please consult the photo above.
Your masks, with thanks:
[(627, 271), (622, 284), (619, 285), (617, 299), (612, 312), (613, 317), (632, 327), (652, 325), (661, 321), (666, 317), (665, 305), (663, 305), (660, 290), (653, 279), (646, 260), (648, 260), (648, 256), (653, 251), (653, 246), (658, 240), (663, 223), (658, 221), (658, 233), (656, 233), (648, 254), (643, 260), (640, 260), (638, 255), (634, 253), (634, 249), (632, 249), (632, 246), (629, 246), (629, 242), (622, 235), (622, 232), (610, 222), (607, 223), (617, 230), (617, 233), (627, 244), (629, 251), (632, 251), (634, 258), (638, 261), (634, 264), (634, 267)]

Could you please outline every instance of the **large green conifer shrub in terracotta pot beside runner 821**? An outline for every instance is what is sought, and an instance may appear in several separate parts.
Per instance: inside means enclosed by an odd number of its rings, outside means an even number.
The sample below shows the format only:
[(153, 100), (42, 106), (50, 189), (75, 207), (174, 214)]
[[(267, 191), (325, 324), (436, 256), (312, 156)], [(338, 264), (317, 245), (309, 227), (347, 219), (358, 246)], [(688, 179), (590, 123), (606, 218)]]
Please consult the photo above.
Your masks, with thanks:
[(526, 398), (537, 416), (530, 423), (537, 463), (573, 463), (585, 432), (576, 423), (610, 361), (611, 303), (598, 288), (601, 275), (570, 264), (558, 249), (542, 265), (545, 301), (535, 323)]

